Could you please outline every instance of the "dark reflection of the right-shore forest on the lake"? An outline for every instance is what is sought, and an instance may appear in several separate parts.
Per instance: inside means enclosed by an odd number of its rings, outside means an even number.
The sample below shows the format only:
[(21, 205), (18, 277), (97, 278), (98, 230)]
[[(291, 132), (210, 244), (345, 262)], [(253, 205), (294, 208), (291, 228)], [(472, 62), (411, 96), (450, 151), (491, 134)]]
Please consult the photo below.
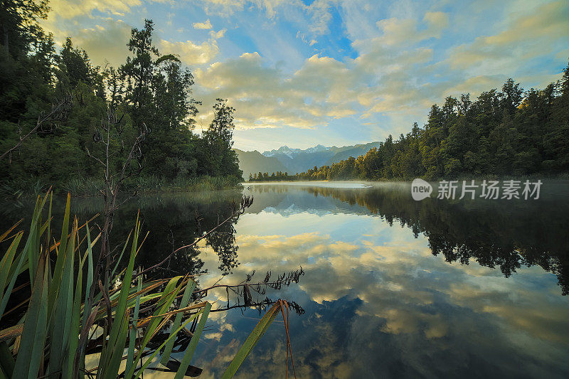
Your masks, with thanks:
[[(541, 266), (558, 278), (562, 294), (569, 293), (569, 201), (566, 193), (550, 191), (538, 201), (414, 201), (407, 184), (373, 188), (301, 187), (313, 196), (331, 197), (378, 215), (390, 225), (399, 223), (415, 237), (428, 238), (433, 255), (467, 265), (476, 260), (499, 267), (509, 277), (522, 266)], [(546, 186), (547, 187), (547, 183)], [(254, 186), (252, 193), (285, 193), (285, 186)], [(559, 196), (558, 196), (559, 195)], [(341, 206), (339, 208), (341, 210)], [(350, 210), (353, 213), (353, 209)]]

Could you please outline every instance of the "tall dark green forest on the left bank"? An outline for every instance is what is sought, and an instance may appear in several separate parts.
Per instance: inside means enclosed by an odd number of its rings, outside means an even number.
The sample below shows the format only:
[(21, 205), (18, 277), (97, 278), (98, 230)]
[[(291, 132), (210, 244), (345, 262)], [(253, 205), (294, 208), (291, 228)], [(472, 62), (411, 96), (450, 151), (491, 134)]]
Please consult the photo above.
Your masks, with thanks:
[[(4, 6), (3, 6), (4, 8)], [(176, 55), (161, 55), (152, 43), (153, 23), (132, 29), (117, 68), (95, 66), (67, 38), (56, 51), (53, 35), (40, 26), (47, 1), (9, 2), (0, 11), (0, 173), (4, 190), (46, 188), (92, 192), (100, 187), (105, 122), (116, 119), (110, 166), (144, 129), (125, 185), (180, 187), (208, 178), (235, 185), (242, 172), (233, 146), (233, 113), (218, 99), (209, 128), (193, 127), (201, 103), (191, 97), (193, 75)], [(104, 58), (104, 57), (103, 57)], [(112, 115), (112, 117), (110, 117)], [(105, 121), (106, 120), (106, 121)], [(115, 132), (116, 133), (116, 132)], [(91, 156), (90, 156), (91, 155)], [(103, 159), (104, 160), (104, 159)], [(83, 187), (83, 188), (81, 188)]]

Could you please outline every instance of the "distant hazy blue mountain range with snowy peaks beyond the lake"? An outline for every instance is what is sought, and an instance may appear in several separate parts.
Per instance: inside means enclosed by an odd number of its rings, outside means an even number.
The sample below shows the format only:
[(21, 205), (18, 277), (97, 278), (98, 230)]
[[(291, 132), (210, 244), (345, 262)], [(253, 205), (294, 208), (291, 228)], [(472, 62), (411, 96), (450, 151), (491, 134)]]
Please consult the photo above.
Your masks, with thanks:
[(243, 177), (246, 179), (249, 174), (259, 171), (268, 173), (282, 171), (294, 175), (297, 172), (312, 169), (314, 166), (333, 164), (348, 159), (350, 156), (361, 156), (378, 146), (379, 142), (342, 147), (317, 145), (304, 150), (281, 146), (276, 150), (263, 151), (262, 154), (256, 150), (234, 150), (239, 157), (239, 167), (243, 170)]

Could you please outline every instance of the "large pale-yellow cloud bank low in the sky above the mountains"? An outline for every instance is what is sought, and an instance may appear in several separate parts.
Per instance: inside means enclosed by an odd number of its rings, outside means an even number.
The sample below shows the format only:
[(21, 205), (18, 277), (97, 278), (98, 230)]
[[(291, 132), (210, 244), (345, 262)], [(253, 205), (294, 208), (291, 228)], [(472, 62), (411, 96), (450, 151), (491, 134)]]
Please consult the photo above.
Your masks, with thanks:
[[(267, 67), (260, 53), (244, 53), (196, 72), (196, 93), (206, 105), (216, 97), (232, 100), (239, 129), (321, 128), (362, 111), (420, 117), (440, 91), (430, 93), (428, 85), (418, 90), (421, 73), (415, 66), (431, 60), (433, 52), (415, 45), (439, 38), (447, 24), (442, 12), (427, 12), (422, 23), (388, 18), (378, 22), (380, 36), (353, 43), (360, 51), (355, 60), (312, 55), (292, 75)], [(300, 32), (297, 37), (305, 38)], [(204, 123), (210, 117), (201, 114)]]

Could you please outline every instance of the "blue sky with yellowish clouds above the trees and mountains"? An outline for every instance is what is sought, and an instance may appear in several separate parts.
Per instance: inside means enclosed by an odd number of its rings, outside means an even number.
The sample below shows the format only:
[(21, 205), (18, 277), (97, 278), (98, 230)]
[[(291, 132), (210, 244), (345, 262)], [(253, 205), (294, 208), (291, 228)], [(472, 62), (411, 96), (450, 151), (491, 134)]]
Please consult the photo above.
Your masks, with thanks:
[(569, 1), (51, 0), (43, 26), (95, 65), (126, 60), (131, 28), (195, 77), (196, 132), (218, 97), (234, 147), (345, 146), (424, 124), (447, 96), (545, 87), (569, 58)]

